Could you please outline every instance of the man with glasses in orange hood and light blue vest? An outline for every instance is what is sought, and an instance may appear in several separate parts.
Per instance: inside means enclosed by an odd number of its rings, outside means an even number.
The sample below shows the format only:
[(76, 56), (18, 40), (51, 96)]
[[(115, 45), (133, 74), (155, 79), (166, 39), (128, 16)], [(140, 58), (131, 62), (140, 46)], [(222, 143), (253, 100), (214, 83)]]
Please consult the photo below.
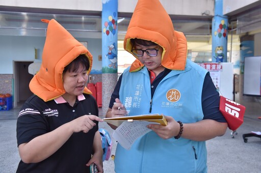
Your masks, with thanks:
[(116, 173), (207, 172), (205, 141), (227, 128), (219, 93), (210, 74), (187, 59), (186, 38), (159, 0), (138, 1), (124, 49), (137, 59), (120, 76), (106, 117), (158, 113), (168, 124), (148, 125), (129, 150), (118, 144)]

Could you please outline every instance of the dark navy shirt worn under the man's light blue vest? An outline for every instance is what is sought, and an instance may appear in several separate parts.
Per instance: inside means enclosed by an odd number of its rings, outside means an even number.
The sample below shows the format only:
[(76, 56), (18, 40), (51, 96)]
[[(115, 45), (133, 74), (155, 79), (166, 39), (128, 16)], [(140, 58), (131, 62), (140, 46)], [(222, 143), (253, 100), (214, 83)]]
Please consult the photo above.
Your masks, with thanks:
[[(162, 81), (162, 79), (165, 76), (167, 76), (170, 72), (171, 72), (171, 70), (169, 70), (168, 68), (165, 68), (165, 70), (163, 72), (161, 72), (158, 76), (156, 76), (156, 78), (154, 79), (154, 81), (152, 82), (151, 87), (150, 87), (151, 98), (154, 95), (156, 87), (159, 85), (159, 83)], [(119, 98), (121, 79), (122, 79), (122, 74), (119, 77), (119, 80), (112, 93), (109, 108), (113, 107), (115, 98)], [(224, 116), (219, 111), (220, 96), (219, 96), (219, 93), (217, 92), (217, 89), (216, 89), (209, 73), (206, 74), (205, 79), (204, 79), (201, 101), (202, 101), (202, 110), (203, 110), (203, 114), (204, 114), (203, 119), (212, 119), (212, 120), (216, 120), (218, 122), (226, 122)], [(210, 104), (210, 103), (212, 103), (212, 104)]]

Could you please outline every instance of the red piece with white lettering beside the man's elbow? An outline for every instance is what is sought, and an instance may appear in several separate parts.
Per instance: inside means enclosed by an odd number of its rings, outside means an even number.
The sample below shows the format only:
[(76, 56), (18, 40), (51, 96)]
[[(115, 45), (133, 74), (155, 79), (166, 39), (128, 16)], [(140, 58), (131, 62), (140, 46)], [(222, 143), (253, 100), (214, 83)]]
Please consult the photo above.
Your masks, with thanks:
[(243, 123), (246, 110), (243, 105), (220, 96), (219, 110), (225, 117), (230, 130), (236, 130)]

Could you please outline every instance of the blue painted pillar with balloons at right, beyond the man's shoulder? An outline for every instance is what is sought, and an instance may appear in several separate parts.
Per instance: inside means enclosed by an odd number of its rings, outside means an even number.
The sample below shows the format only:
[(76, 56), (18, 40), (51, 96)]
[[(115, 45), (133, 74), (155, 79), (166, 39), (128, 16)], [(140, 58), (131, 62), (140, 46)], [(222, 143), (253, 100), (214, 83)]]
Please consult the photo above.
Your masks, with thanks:
[(227, 62), (227, 16), (223, 15), (223, 0), (215, 0), (212, 19), (212, 62)]

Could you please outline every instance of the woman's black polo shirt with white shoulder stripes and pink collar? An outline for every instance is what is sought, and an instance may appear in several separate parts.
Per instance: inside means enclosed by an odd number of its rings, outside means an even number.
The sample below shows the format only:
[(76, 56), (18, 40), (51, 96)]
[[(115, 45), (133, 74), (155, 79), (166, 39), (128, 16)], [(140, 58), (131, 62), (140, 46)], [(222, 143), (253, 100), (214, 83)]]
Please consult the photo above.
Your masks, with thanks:
[[(73, 107), (62, 99), (44, 102), (33, 95), (24, 103), (17, 119), (18, 146), (80, 116), (98, 116), (97, 103), (91, 95), (78, 96)], [(89, 172), (86, 163), (91, 158), (93, 139), (98, 130), (98, 122), (95, 123), (88, 133), (73, 133), (57, 152), (45, 160), (30, 164), (20, 161), (17, 172)]]

